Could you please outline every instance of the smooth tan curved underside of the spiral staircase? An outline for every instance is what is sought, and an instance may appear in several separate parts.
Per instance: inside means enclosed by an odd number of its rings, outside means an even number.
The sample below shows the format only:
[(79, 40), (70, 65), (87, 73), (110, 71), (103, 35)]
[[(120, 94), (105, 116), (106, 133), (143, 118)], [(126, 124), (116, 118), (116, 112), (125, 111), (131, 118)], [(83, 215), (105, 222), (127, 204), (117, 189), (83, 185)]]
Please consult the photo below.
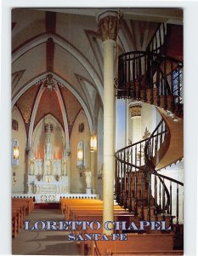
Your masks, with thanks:
[[(157, 107), (156, 107), (157, 108)], [(170, 132), (170, 141), (166, 153), (156, 164), (156, 171), (176, 163), (184, 157), (184, 120), (170, 116), (167, 111), (157, 108)]]

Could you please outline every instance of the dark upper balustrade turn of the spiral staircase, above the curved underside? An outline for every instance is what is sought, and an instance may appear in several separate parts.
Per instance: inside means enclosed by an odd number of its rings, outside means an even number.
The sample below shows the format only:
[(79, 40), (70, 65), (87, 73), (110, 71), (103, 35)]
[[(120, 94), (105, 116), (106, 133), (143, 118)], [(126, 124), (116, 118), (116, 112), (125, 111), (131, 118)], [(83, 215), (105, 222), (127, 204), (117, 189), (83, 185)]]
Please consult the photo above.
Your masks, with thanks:
[(130, 51), (118, 57), (118, 99), (149, 102), (183, 116), (182, 80), (183, 61), (173, 57), (147, 51)]

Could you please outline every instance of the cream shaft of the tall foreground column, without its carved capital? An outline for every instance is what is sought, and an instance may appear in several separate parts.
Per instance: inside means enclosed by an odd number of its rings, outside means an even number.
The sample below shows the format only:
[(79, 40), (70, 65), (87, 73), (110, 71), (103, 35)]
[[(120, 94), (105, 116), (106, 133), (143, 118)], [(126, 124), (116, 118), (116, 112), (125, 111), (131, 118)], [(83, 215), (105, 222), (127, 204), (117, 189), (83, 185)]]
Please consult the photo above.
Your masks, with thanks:
[[(114, 135), (115, 135), (115, 95), (114, 95), (114, 46), (115, 41), (107, 39), (104, 45), (104, 223), (113, 221), (114, 203)], [(105, 234), (107, 234), (105, 230)], [(110, 230), (110, 234), (112, 231)]]

